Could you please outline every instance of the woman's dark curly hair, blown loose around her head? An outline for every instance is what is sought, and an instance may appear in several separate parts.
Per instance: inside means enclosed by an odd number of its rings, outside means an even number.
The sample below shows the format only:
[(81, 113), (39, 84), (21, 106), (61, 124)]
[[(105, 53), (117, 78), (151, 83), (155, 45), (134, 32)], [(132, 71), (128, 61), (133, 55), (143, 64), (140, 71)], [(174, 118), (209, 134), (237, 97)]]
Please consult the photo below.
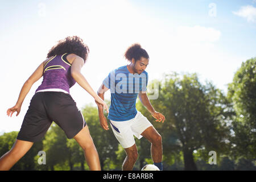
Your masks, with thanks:
[(59, 42), (49, 50), (47, 58), (55, 55), (63, 55), (64, 53), (74, 53), (86, 61), (89, 47), (82, 42), (79, 36), (68, 36), (64, 40), (59, 40)]

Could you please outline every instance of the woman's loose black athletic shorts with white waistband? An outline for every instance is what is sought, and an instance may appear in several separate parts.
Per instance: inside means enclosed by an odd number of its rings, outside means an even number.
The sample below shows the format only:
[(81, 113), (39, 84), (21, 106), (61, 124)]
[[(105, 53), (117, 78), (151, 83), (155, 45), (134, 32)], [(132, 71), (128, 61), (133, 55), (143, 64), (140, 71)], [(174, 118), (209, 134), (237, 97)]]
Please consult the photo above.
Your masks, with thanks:
[(37, 92), (30, 101), (17, 139), (29, 142), (42, 140), (52, 121), (63, 129), (69, 139), (86, 125), (70, 94)]

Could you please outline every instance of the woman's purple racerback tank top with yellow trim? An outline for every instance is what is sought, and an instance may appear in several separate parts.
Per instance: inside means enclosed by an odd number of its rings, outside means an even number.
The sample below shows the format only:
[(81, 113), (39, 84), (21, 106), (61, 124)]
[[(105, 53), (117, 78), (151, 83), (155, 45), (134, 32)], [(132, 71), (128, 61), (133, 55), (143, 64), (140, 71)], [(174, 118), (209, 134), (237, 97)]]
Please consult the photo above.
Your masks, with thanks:
[(36, 92), (44, 89), (62, 89), (69, 93), (69, 88), (75, 85), (76, 81), (71, 76), (71, 64), (64, 55), (55, 55), (47, 61), (43, 69), (42, 84), (36, 89)]

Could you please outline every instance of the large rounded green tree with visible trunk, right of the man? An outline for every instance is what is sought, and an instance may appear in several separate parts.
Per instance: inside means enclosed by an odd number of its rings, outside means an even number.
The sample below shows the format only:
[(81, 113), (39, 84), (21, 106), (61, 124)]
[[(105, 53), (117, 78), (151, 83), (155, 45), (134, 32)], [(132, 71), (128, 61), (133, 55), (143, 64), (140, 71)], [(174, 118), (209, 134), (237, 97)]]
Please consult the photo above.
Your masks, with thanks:
[[(151, 100), (154, 108), (166, 116), (166, 122), (155, 123), (162, 134), (164, 151), (183, 152), (184, 169), (197, 170), (193, 152), (201, 150), (204, 158), (209, 151), (218, 155), (227, 151), (227, 126), (230, 117), (228, 100), (212, 84), (202, 85), (196, 74), (166, 75), (159, 84), (159, 98)], [(142, 110), (146, 116), (146, 109)], [(154, 119), (148, 116), (154, 123)], [(164, 155), (166, 155), (164, 153)]]

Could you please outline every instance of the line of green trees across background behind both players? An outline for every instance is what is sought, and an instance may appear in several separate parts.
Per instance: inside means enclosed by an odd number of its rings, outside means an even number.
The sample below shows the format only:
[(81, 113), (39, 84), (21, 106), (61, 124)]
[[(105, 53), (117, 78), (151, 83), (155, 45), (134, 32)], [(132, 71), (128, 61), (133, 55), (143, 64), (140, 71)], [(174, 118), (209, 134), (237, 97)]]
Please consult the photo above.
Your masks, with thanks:
[[(202, 84), (196, 74), (166, 75), (159, 82), (158, 98), (151, 100), (166, 117), (155, 119), (137, 102), (137, 110), (148, 118), (163, 140), (165, 170), (256, 170), (256, 59), (242, 63), (228, 86), (228, 95), (211, 82)], [(148, 88), (154, 88), (152, 81)], [(157, 85), (157, 84), (156, 84)], [(155, 89), (155, 88), (154, 88)], [(149, 89), (148, 91), (152, 91)], [(109, 102), (109, 101), (107, 101)], [(97, 107), (85, 105), (82, 114), (104, 170), (121, 170), (125, 151), (111, 130), (101, 128)], [(0, 136), (0, 155), (13, 146), (18, 132)], [(150, 142), (135, 139), (139, 157), (134, 170), (152, 163)], [(39, 165), (39, 151), (46, 164)], [(209, 151), (216, 151), (217, 165), (210, 165)], [(84, 151), (75, 139), (67, 139), (55, 123), (40, 142), (34, 143), (12, 170), (89, 170)]]

